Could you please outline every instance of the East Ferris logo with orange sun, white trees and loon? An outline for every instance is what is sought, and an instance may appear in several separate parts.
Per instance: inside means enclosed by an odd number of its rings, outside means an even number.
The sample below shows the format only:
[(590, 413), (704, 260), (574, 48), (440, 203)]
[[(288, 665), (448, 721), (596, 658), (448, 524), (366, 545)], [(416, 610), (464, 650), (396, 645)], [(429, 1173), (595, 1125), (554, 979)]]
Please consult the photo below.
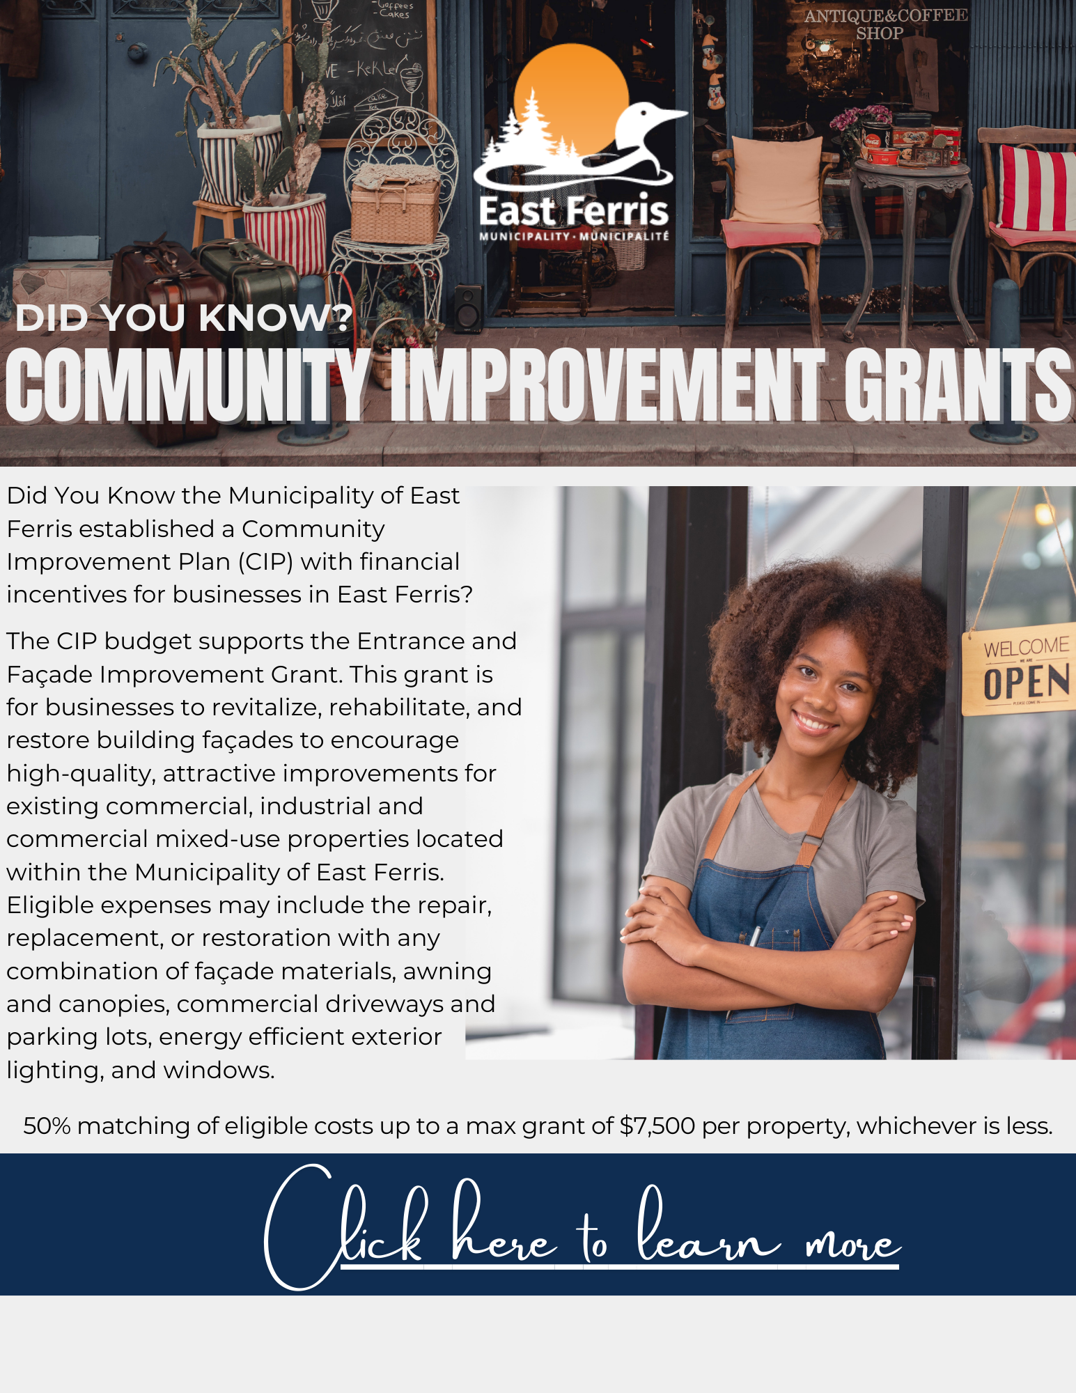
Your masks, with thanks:
[[(645, 187), (672, 184), (673, 176), (647, 146), (647, 137), (662, 123), (682, 116), (687, 111), (629, 102), (623, 72), (598, 49), (584, 43), (546, 49), (520, 74), (514, 107), (500, 138), (486, 146), (474, 180), (482, 188), (512, 194), (518, 194), (520, 185), (541, 189), (544, 195), (577, 187), (590, 192), (570, 195), (566, 201), (542, 198), (520, 205), (482, 198), (482, 224), (555, 226), (553, 206), (562, 202), (569, 226), (580, 219), (591, 227), (612, 224), (617, 213), (624, 223), (636, 217), (644, 226), (663, 226), (669, 220), (668, 205), (650, 203)], [(609, 153), (599, 157), (602, 152)], [(640, 201), (598, 202), (594, 187), (615, 180), (644, 185)]]

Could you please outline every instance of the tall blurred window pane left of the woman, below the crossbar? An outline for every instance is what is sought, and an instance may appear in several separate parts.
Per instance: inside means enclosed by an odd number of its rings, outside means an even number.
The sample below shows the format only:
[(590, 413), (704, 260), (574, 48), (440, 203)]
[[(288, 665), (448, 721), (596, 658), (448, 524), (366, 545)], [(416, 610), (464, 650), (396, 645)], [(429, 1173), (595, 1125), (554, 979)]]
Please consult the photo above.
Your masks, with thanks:
[(612, 999), (616, 648), (576, 634), (563, 657), (556, 995), (588, 1002)]

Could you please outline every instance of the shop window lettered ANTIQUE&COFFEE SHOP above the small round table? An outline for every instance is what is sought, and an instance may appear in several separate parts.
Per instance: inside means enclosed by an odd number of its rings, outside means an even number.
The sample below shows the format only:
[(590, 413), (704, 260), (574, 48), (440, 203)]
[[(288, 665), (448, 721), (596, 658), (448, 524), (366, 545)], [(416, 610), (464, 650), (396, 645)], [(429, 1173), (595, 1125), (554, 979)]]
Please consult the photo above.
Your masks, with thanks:
[[(885, 22), (877, 22), (879, 15)], [(850, 156), (833, 120), (868, 106), (898, 117), (919, 113), (931, 128), (958, 130), (966, 156), (969, 47), (966, 7), (879, 11), (754, 0), (754, 135), (776, 141), (821, 135), (824, 149), (842, 152), (842, 167), (827, 181), (822, 206), (828, 237), (856, 237)], [(875, 235), (900, 235), (899, 194), (866, 196), (864, 209)], [(956, 194), (920, 191), (916, 235), (952, 237), (959, 210)]]

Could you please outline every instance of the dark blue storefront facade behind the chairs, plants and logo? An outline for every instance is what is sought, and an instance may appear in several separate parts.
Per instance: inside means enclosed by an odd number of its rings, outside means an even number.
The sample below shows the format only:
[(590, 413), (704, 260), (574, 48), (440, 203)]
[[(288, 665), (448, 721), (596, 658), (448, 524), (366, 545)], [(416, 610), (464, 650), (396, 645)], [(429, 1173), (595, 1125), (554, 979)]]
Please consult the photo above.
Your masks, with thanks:
[[(213, 24), (229, 11), (205, 6)], [(376, 18), (381, 10), (369, 10)], [(153, 88), (156, 60), (181, 46), (180, 0), (45, 0), (36, 79), (0, 70), (3, 259), (105, 259), (125, 242), (188, 235), (197, 176), (173, 135), (180, 95)], [(236, 47), (245, 53), (280, 21), (280, 0), (245, 0)], [(491, 132), (503, 123), (527, 61), (560, 43), (609, 54), (631, 100), (689, 113), (661, 130), (658, 153), (673, 163), (670, 238), (648, 247), (644, 267), (599, 287), (594, 313), (613, 322), (715, 322), (725, 305), (725, 192), (714, 155), (730, 137), (825, 137), (849, 107), (917, 107), (963, 132), (976, 189), (983, 182), (974, 132), (981, 125), (1068, 127), (1076, 121), (1076, 46), (1068, 0), (967, 0), (962, 7), (815, 6), (807, 0), (439, 0), (438, 109), (460, 150), (460, 181), (446, 221), (452, 241), (445, 283), (482, 283), (489, 322), (506, 297), (506, 252), (482, 238), (481, 189), (471, 174)], [(134, 42), (131, 42), (134, 40)], [(249, 40), (249, 42), (248, 42)], [(138, 53), (139, 45), (146, 53)], [(907, 61), (912, 53), (913, 81)], [(276, 110), (282, 64), (268, 63), (252, 89), (255, 107)], [(924, 86), (925, 84), (925, 86)], [(924, 96), (925, 92), (925, 96)], [(661, 143), (659, 142), (659, 143)], [(666, 150), (668, 146), (668, 150)], [(656, 148), (656, 146), (655, 146)], [(315, 191), (329, 198), (330, 231), (346, 226), (341, 152), (325, 152)], [(831, 181), (824, 203), (821, 295), (832, 320), (840, 297), (857, 295), (863, 249), (847, 216), (847, 174)], [(899, 213), (885, 195), (868, 201), (875, 287), (900, 279)], [(944, 286), (955, 205), (925, 195), (917, 208), (916, 283)], [(973, 216), (962, 267), (963, 299), (983, 311), (985, 248)], [(757, 259), (746, 305), (755, 323), (806, 319), (796, 267)], [(843, 312), (842, 312), (843, 309)], [(1024, 293), (1024, 313), (1048, 316), (1047, 269)], [(932, 319), (942, 309), (928, 306)], [(1076, 312), (1076, 287), (1069, 309)]]

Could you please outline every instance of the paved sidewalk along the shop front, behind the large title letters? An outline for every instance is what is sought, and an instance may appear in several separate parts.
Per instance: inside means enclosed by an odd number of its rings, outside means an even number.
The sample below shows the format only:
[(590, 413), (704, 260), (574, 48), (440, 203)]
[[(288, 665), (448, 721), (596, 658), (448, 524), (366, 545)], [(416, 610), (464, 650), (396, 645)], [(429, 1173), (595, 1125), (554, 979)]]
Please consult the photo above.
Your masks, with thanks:
[[(981, 325), (974, 329), (981, 334)], [(1076, 326), (1066, 325), (1061, 340), (1047, 325), (1026, 325), (1024, 347), (1063, 348), (1076, 361)], [(566, 345), (601, 347), (712, 347), (721, 343), (721, 327), (702, 326), (598, 326), (570, 320), (553, 327), (528, 327), (525, 322), (488, 329), (477, 338), (445, 336), (446, 347), (491, 347), (506, 351), (518, 345), (544, 350)], [(103, 345), (105, 326), (91, 325), (79, 334), (17, 334), (14, 322), (0, 326), (0, 379), (7, 354), (17, 344), (31, 344), (39, 352), (54, 347)], [(754, 326), (737, 330), (736, 345), (744, 348), (810, 347), (807, 326)], [(222, 426), (215, 440), (155, 450), (125, 425), (15, 425), (0, 408), (0, 462), (8, 467), (93, 467), (93, 465), (361, 465), (361, 467), (466, 467), (466, 465), (998, 465), (1076, 464), (1073, 422), (1045, 423), (1034, 408), (1029, 418), (1040, 432), (1026, 446), (990, 446), (969, 435), (963, 422), (941, 423), (856, 423), (845, 408), (845, 358), (853, 347), (884, 352), (896, 345), (892, 325), (866, 327), (854, 344), (828, 326), (824, 344), (828, 361), (820, 376), (818, 422), (753, 423), (597, 423), (592, 417), (577, 425), (560, 422), (510, 423), (507, 398), (491, 400), (486, 423), (404, 423), (392, 422), (390, 394), (371, 380), (365, 419), (351, 425), (343, 440), (298, 449), (280, 444), (275, 429), (236, 430)], [(956, 325), (916, 326), (909, 345), (924, 355), (930, 348), (963, 348)], [(1076, 373), (1062, 373), (1069, 383)], [(1029, 397), (1043, 390), (1034, 379)], [(797, 389), (799, 391), (799, 389)], [(748, 403), (750, 394), (740, 397)], [(797, 403), (799, 408), (799, 403)], [(333, 415), (343, 418), (343, 391), (333, 391)]]

